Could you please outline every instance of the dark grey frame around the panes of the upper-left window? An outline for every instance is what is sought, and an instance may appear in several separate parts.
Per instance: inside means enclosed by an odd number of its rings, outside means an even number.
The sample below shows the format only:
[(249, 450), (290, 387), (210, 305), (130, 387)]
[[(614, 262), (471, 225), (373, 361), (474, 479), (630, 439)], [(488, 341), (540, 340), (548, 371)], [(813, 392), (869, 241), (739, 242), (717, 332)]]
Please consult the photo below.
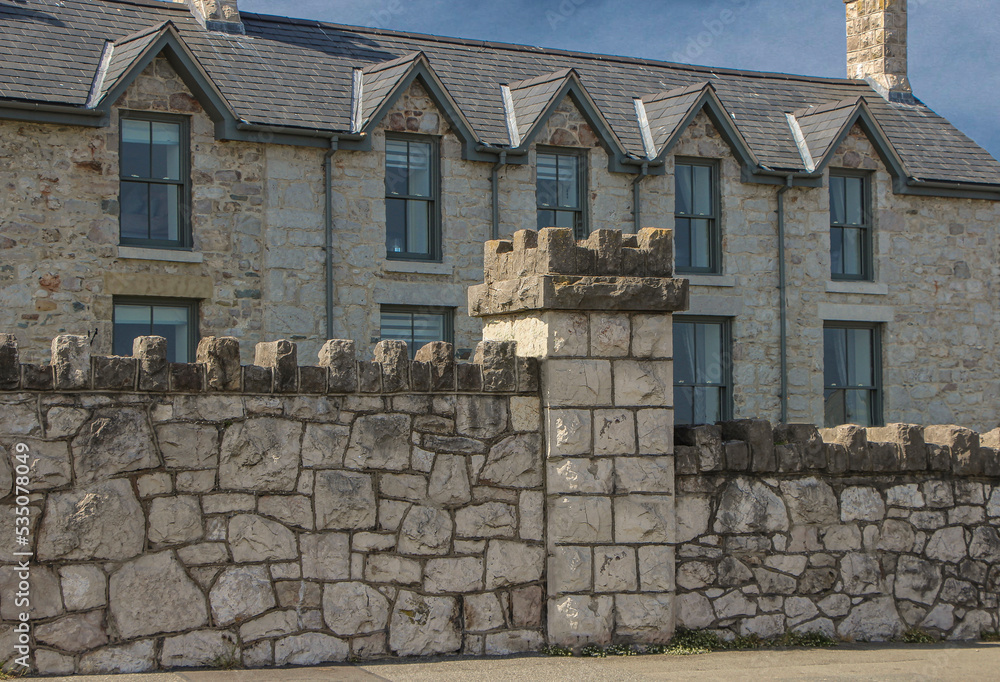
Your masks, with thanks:
[[(151, 121), (155, 123), (174, 123), (180, 126), (180, 182), (159, 180), (154, 178), (133, 178), (122, 175), (121, 148), (122, 133), (124, 126), (122, 121)], [(118, 243), (122, 246), (142, 246), (154, 249), (174, 249), (190, 251), (194, 247), (194, 235), (191, 229), (191, 120), (187, 116), (177, 114), (163, 114), (155, 111), (131, 111), (122, 110), (118, 112)], [(122, 236), (122, 201), (121, 186), (123, 182), (145, 182), (151, 185), (177, 185), (179, 186), (180, 206), (177, 211), (177, 234), (176, 241), (165, 239), (135, 239), (133, 237)]]

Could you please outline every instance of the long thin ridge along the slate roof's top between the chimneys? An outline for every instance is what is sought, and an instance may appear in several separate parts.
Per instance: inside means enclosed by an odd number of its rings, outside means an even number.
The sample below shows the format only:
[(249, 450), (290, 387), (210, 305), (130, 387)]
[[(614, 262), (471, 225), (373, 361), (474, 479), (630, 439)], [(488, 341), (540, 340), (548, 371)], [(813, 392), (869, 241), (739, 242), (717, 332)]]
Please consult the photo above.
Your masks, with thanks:
[[(105, 0), (106, 2), (151, 2), (152, 0)], [(156, 3), (159, 5), (160, 3)], [(313, 28), (328, 28), (339, 31), (353, 33), (372, 34), (376, 36), (395, 36), (409, 38), (413, 40), (425, 40), (428, 42), (443, 43), (449, 45), (464, 45), (467, 47), (491, 48), (496, 50), (508, 50), (513, 52), (532, 52), (546, 55), (557, 55), (563, 57), (573, 57), (577, 59), (587, 59), (599, 62), (617, 62), (621, 64), (634, 64), (638, 66), (656, 66), (662, 68), (677, 69), (680, 71), (692, 71), (695, 73), (720, 74), (727, 76), (740, 76), (745, 78), (765, 78), (776, 80), (803, 81), (808, 83), (831, 83), (834, 85), (854, 85), (871, 89), (871, 85), (863, 79), (854, 78), (830, 78), (828, 76), (804, 76), (801, 74), (781, 73), (777, 71), (750, 71), (743, 69), (730, 69), (724, 67), (704, 66), (697, 64), (682, 64), (679, 62), (668, 62), (658, 59), (646, 59), (642, 57), (628, 57), (625, 55), (601, 54), (595, 52), (580, 52), (577, 50), (564, 50), (556, 47), (541, 47), (536, 45), (525, 45), (522, 43), (504, 43), (492, 40), (476, 40), (473, 38), (457, 38), (453, 36), (438, 36), (432, 33), (417, 33), (413, 31), (397, 31), (387, 28), (375, 28), (371, 26), (352, 26), (350, 24), (336, 24), (318, 19), (299, 19), (295, 17), (283, 17), (275, 14), (258, 14), (256, 12), (240, 12), (243, 23), (248, 19), (261, 23), (290, 24), (293, 26), (307, 26)], [(248, 35), (248, 37), (253, 37)]]

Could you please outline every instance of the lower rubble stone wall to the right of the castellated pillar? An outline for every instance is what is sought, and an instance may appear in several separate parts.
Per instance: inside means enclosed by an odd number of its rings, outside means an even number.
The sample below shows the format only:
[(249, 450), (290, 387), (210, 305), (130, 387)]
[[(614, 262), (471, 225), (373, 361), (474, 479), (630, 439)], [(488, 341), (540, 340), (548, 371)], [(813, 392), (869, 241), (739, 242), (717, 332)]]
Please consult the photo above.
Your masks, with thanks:
[(746, 420), (676, 436), (678, 627), (997, 629), (1000, 430)]

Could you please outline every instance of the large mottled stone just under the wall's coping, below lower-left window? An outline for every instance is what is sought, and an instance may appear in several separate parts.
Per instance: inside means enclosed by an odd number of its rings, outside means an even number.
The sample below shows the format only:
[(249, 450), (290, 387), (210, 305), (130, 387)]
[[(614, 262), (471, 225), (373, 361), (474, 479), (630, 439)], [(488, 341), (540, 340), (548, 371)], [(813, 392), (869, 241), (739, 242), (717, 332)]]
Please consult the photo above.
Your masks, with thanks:
[(160, 464), (144, 412), (131, 407), (97, 410), (72, 441), (78, 483)]

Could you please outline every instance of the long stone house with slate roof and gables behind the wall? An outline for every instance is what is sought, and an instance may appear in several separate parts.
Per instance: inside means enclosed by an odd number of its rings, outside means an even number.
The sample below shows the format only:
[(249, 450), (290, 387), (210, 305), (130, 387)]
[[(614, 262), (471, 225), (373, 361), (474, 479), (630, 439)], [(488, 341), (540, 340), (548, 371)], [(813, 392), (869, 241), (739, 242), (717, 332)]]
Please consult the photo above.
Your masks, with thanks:
[(905, 0), (845, 4), (850, 79), (5, 4), (0, 329), (33, 362), (60, 333), (470, 349), (485, 241), (669, 227), (678, 422), (992, 428), (1000, 164), (910, 92)]

